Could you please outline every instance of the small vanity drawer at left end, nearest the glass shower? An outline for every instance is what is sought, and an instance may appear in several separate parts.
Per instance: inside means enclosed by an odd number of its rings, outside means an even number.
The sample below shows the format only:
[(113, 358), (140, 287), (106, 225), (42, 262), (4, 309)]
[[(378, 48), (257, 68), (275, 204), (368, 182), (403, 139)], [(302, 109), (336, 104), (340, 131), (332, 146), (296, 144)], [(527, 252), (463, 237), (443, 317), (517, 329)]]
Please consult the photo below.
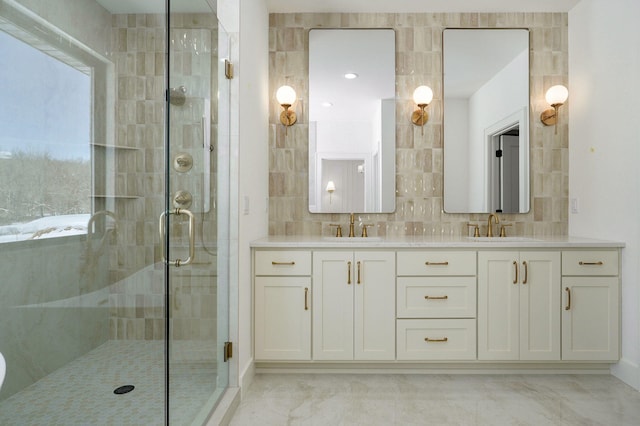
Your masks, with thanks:
[(255, 252), (256, 275), (311, 275), (311, 252), (260, 250)]

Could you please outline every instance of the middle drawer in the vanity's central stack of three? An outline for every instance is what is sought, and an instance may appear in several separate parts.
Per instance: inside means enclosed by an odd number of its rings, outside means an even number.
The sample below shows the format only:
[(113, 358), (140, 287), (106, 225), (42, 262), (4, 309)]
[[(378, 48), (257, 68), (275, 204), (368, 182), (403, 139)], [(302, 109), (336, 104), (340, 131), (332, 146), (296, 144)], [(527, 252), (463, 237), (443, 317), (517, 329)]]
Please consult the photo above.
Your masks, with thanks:
[(398, 318), (475, 318), (475, 277), (398, 277)]

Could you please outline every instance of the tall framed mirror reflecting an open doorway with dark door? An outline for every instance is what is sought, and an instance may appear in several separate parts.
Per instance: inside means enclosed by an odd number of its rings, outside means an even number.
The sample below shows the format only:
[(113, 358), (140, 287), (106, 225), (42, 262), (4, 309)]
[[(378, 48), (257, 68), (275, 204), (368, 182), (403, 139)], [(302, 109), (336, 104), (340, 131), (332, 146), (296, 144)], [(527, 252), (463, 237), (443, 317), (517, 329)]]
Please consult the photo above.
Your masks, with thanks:
[(529, 211), (529, 30), (445, 29), (444, 210)]

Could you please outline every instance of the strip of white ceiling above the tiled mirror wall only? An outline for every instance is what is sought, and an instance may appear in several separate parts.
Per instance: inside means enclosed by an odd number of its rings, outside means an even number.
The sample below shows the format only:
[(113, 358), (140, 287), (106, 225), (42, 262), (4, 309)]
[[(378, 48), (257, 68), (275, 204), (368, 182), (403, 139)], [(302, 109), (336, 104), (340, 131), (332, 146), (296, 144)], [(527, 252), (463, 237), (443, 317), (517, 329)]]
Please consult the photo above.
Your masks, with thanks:
[(269, 12), (568, 12), (580, 0), (266, 0)]

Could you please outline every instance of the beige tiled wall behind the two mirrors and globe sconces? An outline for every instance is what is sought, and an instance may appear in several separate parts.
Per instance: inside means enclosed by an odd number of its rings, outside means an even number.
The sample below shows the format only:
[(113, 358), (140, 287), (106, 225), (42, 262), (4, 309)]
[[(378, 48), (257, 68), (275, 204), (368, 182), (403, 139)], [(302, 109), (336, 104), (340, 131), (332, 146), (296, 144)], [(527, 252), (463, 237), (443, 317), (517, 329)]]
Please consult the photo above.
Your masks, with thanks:
[[(568, 84), (566, 13), (271, 14), (269, 29), (270, 157), (269, 234), (331, 235), (329, 223), (348, 215), (311, 214), (308, 209), (308, 34), (311, 28), (393, 28), (396, 32), (396, 210), (361, 215), (374, 223), (372, 235), (466, 235), (483, 214), (443, 211), (442, 31), (445, 28), (528, 28), (530, 30), (531, 210), (501, 215), (516, 235), (566, 235), (568, 230), (567, 108), (560, 109), (558, 134), (540, 122), (548, 108), (545, 91)], [(298, 122), (285, 130), (275, 92), (296, 89)], [(434, 91), (424, 135), (410, 121), (413, 90)], [(570, 100), (569, 100), (570, 101)]]

